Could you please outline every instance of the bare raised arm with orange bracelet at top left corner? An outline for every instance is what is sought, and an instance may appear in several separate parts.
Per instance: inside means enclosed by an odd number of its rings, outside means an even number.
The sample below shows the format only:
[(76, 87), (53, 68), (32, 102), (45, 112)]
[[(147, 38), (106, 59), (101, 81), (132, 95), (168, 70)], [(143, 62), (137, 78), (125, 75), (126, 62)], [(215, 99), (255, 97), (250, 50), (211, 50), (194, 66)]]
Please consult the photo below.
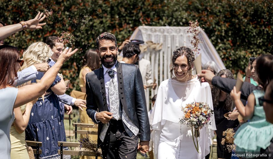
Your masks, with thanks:
[[(46, 18), (46, 15), (43, 16), (43, 13), (38, 12), (34, 19), (30, 19), (25, 21), (25, 25), (27, 29), (35, 30), (35, 29), (42, 29), (42, 26), (46, 25), (46, 23), (40, 23)], [(5, 39), (8, 36), (23, 30), (23, 26), (18, 24), (7, 25), (0, 28), (0, 39)]]

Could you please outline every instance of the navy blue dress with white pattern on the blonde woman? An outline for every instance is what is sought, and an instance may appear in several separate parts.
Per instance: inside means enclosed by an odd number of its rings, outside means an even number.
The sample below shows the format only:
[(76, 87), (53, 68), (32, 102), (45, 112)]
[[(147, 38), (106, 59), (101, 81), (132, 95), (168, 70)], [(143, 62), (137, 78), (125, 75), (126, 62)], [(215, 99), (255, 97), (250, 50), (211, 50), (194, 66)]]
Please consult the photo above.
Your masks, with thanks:
[[(41, 79), (44, 73), (38, 72), (37, 79)], [(51, 85), (60, 82), (61, 78), (57, 75)], [(36, 79), (31, 81), (36, 82)], [(44, 96), (44, 101), (40, 97), (33, 105), (28, 126), (26, 128), (26, 140), (42, 142), (42, 154), (40, 158), (60, 158), (58, 154), (58, 141), (66, 141), (63, 117), (60, 114), (60, 104), (57, 95), (52, 92), (51, 87), (46, 91), (50, 94)], [(64, 147), (68, 149), (68, 147)], [(63, 156), (70, 158), (68, 155)]]

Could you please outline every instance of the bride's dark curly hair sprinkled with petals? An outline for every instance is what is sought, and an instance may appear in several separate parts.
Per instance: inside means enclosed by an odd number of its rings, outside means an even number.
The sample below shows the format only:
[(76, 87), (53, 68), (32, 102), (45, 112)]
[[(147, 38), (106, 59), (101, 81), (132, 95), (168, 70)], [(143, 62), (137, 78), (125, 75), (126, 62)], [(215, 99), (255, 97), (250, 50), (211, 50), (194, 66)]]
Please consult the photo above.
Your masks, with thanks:
[(170, 73), (173, 75), (173, 69), (174, 69), (174, 64), (176, 59), (179, 56), (186, 56), (187, 60), (188, 60), (188, 73), (190, 75), (192, 75), (192, 71), (193, 71), (193, 61), (195, 60), (195, 55), (193, 53), (193, 51), (188, 48), (188, 47), (179, 47), (178, 49), (176, 49), (175, 51), (173, 51), (173, 56), (172, 56), (172, 64), (170, 66)]

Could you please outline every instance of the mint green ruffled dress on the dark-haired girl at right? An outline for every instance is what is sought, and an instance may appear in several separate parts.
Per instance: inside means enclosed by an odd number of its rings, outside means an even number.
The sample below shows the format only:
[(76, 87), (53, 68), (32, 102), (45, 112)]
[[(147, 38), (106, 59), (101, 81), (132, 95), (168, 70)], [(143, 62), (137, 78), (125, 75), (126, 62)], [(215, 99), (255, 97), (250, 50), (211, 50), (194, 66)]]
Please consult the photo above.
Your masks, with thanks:
[[(236, 154), (260, 154), (261, 148), (266, 149), (273, 138), (273, 124), (265, 120), (263, 106), (259, 105), (258, 98), (264, 96), (262, 90), (254, 90), (256, 105), (254, 114), (249, 122), (243, 123), (234, 135)], [(244, 158), (253, 158), (244, 156)]]

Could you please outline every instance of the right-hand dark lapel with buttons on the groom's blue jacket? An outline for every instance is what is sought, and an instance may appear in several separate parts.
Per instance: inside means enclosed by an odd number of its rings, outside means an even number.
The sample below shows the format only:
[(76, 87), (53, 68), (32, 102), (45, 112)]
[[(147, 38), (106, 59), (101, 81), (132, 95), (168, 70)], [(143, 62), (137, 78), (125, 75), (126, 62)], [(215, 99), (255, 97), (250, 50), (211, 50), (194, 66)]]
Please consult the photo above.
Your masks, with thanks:
[(119, 92), (119, 99), (121, 101), (122, 107), (127, 114), (128, 108), (125, 100), (125, 93), (124, 93), (124, 86), (123, 86), (123, 74), (122, 74), (122, 65), (117, 62), (116, 63), (116, 71), (117, 71), (117, 79), (118, 79), (118, 92)]

